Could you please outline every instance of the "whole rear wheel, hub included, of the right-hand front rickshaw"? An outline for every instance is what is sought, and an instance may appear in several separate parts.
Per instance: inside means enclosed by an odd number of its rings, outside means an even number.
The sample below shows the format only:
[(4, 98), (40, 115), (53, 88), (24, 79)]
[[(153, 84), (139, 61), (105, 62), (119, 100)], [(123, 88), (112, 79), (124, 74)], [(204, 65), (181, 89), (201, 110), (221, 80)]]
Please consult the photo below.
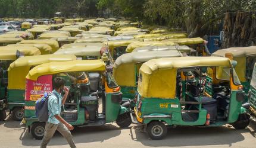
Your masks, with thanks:
[(167, 127), (161, 121), (152, 121), (146, 127), (146, 131), (152, 140), (161, 140), (166, 137)]

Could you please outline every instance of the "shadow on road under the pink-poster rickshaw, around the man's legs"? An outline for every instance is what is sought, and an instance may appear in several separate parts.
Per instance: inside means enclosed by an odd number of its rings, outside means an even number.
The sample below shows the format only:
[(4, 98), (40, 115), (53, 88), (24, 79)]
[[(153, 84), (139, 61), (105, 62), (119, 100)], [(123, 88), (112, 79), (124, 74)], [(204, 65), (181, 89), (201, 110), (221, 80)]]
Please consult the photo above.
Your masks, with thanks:
[[(76, 127), (73, 131), (71, 131), (74, 139), (74, 143), (90, 143), (95, 141), (101, 141), (111, 139), (120, 135), (120, 128), (115, 127), (111, 124), (107, 124), (106, 126), (101, 127)], [(22, 140), (23, 146), (40, 146), (41, 140), (33, 140), (32, 135), (24, 131), (20, 140)], [(61, 136), (60, 133), (56, 132), (54, 137), (51, 139), (48, 146), (61, 146), (68, 144), (67, 141)]]

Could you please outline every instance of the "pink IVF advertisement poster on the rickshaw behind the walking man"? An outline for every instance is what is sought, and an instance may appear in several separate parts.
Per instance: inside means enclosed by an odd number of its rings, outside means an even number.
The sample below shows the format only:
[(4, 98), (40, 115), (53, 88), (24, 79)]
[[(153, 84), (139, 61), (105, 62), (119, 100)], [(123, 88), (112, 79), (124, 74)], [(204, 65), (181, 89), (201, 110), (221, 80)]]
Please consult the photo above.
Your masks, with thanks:
[(52, 75), (44, 75), (38, 81), (26, 80), (26, 101), (37, 101), (45, 92), (52, 91)]

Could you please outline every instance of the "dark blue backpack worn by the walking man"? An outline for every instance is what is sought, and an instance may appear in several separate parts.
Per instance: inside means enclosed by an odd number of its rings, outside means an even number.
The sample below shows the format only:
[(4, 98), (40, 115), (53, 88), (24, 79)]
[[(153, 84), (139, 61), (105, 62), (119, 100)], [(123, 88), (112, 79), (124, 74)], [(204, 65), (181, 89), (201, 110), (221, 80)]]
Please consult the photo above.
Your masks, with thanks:
[[(49, 110), (48, 110), (48, 98), (51, 95), (55, 95), (54, 93), (45, 93), (42, 98), (38, 99), (36, 101), (36, 117), (38, 118), (39, 122), (46, 122), (49, 118)], [(59, 98), (57, 95), (55, 95), (58, 99), (59, 104)]]

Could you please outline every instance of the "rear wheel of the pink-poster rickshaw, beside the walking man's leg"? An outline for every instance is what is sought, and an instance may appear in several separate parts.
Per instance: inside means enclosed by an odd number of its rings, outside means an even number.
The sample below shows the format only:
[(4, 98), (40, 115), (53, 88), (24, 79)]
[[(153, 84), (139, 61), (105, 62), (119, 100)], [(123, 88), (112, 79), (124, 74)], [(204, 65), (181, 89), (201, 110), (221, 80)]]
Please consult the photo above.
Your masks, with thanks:
[(43, 139), (43, 136), (45, 135), (45, 123), (33, 123), (31, 134), (35, 139)]

